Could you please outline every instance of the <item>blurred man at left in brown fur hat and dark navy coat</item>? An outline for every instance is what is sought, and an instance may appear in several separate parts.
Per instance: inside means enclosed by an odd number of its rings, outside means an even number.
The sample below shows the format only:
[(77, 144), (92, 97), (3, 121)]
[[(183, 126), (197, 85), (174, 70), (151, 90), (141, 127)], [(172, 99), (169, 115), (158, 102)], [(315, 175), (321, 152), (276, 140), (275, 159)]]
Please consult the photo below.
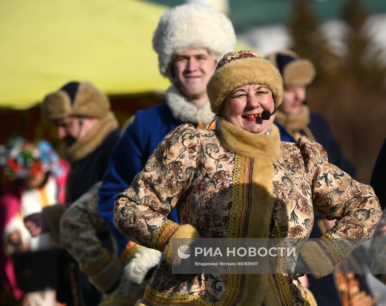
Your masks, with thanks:
[[(120, 136), (118, 122), (110, 110), (110, 101), (107, 96), (88, 82), (71, 82), (57, 92), (48, 94), (42, 104), (42, 114), (46, 121), (53, 122), (58, 127), (58, 137), (66, 143), (63, 153), (71, 166), (66, 187), (68, 207), (102, 179), (102, 175), (107, 169), (110, 151)], [(39, 216), (31, 216), (29, 221), (32, 222), (28, 224), (32, 224), (35, 229), (40, 227), (41, 231), (49, 230), (56, 242), (59, 242), (59, 238), (61, 238), (59, 237), (59, 219), (65, 209), (66, 206), (64, 205), (45, 207)], [(88, 235), (85, 228), (92, 226), (88, 224), (90, 222), (86, 221), (96, 219), (95, 216), (98, 216), (96, 206), (84, 205), (78, 209), (76, 219), (80, 218), (83, 222), (76, 224), (78, 230), (73, 230), (73, 235)], [(76, 290), (77, 294), (74, 299), (78, 299), (80, 305), (97, 305), (102, 294), (95, 286), (98, 289), (100, 289), (99, 285), (102, 285), (106, 290), (110, 289), (109, 284), (111, 287), (119, 281), (124, 265), (117, 257), (103, 257), (106, 252), (107, 254), (113, 252), (107, 228), (103, 229), (103, 226), (92, 228), (94, 236), (98, 236), (100, 243), (105, 248), (101, 247), (98, 252), (92, 253), (90, 260), (83, 263), (83, 265), (88, 265), (88, 268), (91, 263), (94, 264), (93, 278), (90, 277), (91, 283), (89, 275), (80, 272), (79, 269), (71, 269), (77, 283), (76, 288), (72, 288), (72, 292), (74, 289)], [(95, 235), (95, 231), (97, 235)], [(73, 242), (76, 244), (74, 239)], [(95, 268), (95, 261), (97, 260), (100, 262), (99, 268)], [(115, 270), (117, 273), (108, 274), (108, 270), (110, 272)], [(110, 278), (107, 277), (107, 274)], [(109, 280), (110, 282), (108, 282)], [(63, 292), (64, 287), (67, 288), (67, 292)], [(74, 303), (74, 300), (71, 299), (69, 282), (64, 282), (63, 286), (58, 289), (58, 300), (66, 301), (67, 305)], [(61, 296), (62, 294), (63, 296)]]

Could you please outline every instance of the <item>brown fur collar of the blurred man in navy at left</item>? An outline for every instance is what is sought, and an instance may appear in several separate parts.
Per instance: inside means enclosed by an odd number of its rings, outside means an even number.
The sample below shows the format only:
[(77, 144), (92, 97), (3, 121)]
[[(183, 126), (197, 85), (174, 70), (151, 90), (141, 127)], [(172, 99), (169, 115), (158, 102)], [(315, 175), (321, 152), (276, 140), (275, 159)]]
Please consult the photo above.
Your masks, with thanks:
[(118, 128), (118, 121), (110, 110), (80, 140), (69, 147), (64, 147), (64, 157), (69, 163), (77, 162), (94, 151), (105, 140), (108, 134)]

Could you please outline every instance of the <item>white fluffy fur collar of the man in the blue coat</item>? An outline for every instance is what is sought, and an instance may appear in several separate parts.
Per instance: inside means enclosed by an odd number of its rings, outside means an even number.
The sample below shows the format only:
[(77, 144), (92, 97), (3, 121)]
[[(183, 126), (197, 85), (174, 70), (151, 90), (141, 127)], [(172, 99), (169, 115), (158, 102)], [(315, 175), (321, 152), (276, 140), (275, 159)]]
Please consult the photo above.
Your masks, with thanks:
[(166, 90), (166, 104), (173, 116), (185, 123), (210, 124), (215, 116), (210, 110), (209, 101), (198, 108), (181, 94), (175, 85)]

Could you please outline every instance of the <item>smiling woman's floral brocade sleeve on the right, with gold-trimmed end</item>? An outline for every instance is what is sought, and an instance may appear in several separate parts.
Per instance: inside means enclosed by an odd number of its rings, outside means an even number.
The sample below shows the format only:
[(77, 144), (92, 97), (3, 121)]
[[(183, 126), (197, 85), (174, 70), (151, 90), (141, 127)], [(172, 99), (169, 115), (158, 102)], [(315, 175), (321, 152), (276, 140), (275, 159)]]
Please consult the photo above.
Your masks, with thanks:
[(374, 190), (329, 163), (321, 145), (306, 137), (298, 145), (309, 173), (314, 210), (328, 220), (337, 219), (318, 240), (335, 265), (374, 235), (382, 211)]

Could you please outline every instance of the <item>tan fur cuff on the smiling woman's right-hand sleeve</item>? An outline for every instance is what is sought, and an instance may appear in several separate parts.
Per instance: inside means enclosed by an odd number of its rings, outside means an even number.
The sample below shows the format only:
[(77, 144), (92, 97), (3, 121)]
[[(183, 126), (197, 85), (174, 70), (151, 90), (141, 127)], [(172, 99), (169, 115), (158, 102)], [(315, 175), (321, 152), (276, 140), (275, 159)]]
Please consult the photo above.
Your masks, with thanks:
[(331, 260), (323, 253), (315, 241), (306, 242), (300, 249), (300, 255), (303, 257), (315, 278), (323, 277), (334, 269)]

